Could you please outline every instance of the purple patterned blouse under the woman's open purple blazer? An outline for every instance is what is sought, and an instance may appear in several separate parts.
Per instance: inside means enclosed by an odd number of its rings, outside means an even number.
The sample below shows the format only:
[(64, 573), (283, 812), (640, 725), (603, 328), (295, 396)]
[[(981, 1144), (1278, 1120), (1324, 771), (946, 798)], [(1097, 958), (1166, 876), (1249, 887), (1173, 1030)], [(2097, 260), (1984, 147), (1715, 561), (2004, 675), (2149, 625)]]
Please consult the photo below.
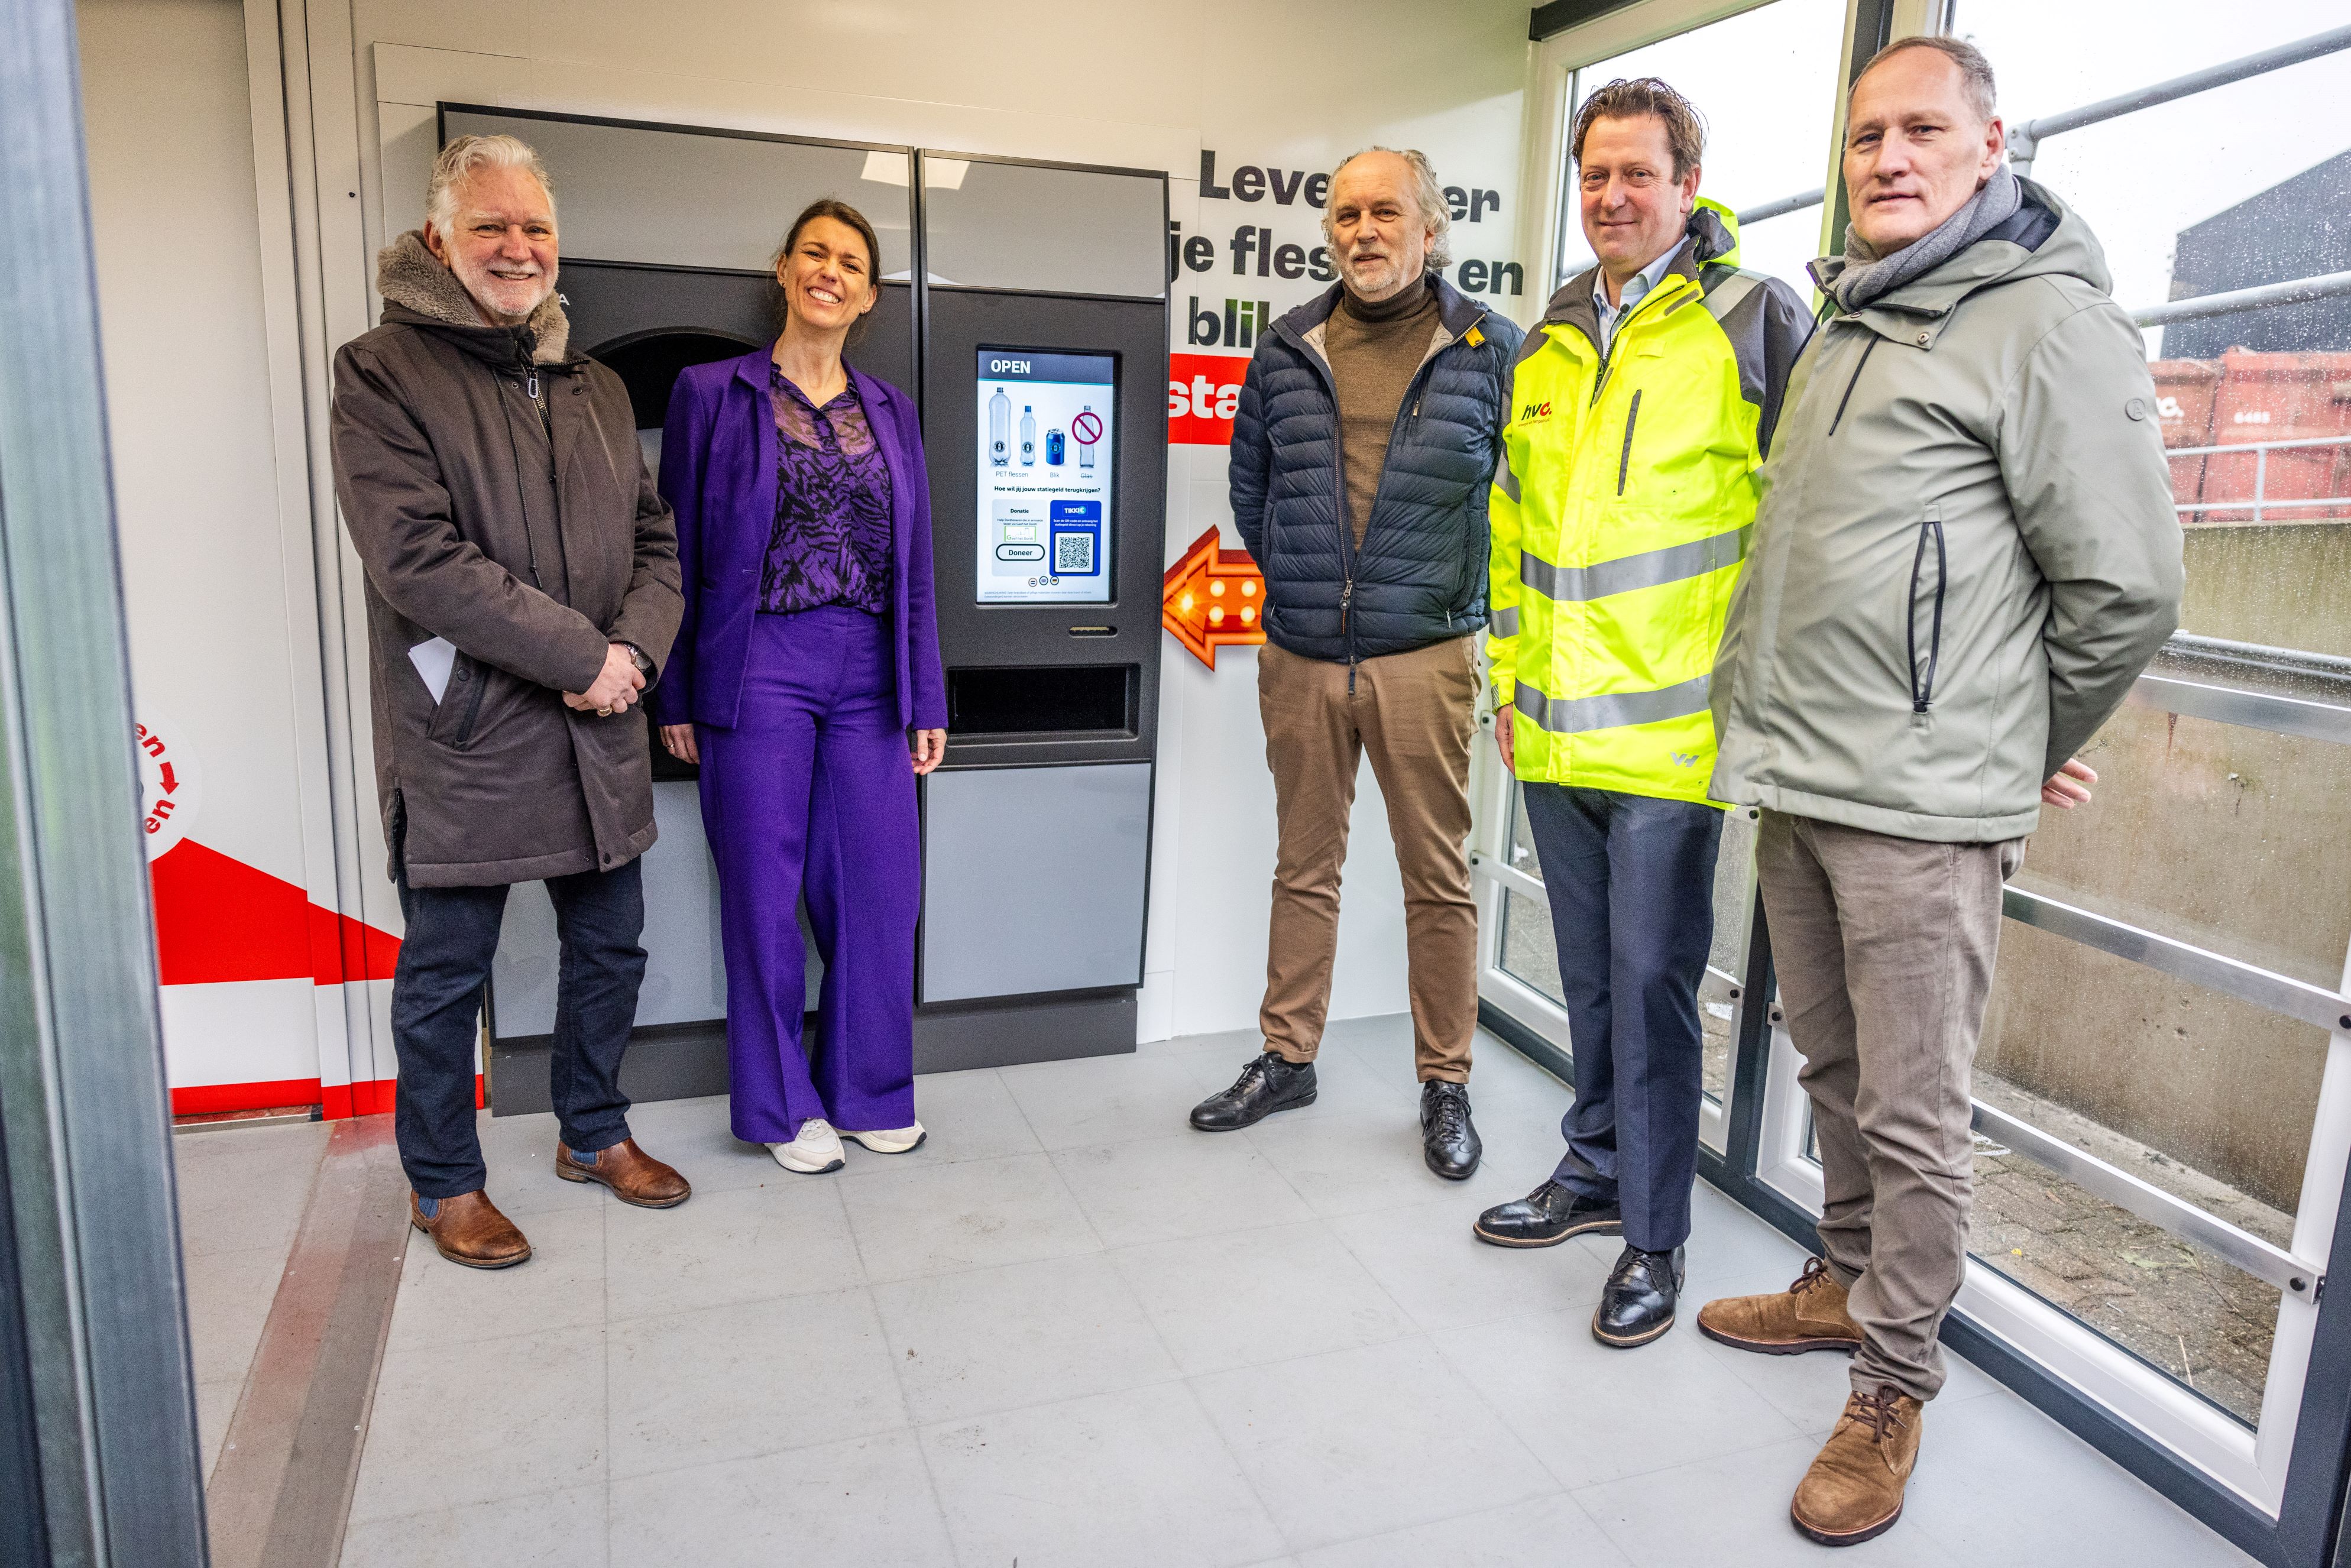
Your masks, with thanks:
[(816, 407), (769, 367), (776, 407), (776, 531), (759, 569), (759, 611), (818, 604), (889, 614), (889, 463), (856, 383)]

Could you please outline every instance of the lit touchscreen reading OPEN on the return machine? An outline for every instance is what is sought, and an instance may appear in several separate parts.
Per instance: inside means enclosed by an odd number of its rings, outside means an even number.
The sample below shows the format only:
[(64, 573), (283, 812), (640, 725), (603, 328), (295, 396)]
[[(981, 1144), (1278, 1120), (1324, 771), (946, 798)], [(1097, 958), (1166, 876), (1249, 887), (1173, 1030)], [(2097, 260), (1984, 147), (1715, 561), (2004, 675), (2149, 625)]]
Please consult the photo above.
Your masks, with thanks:
[(980, 350), (980, 604), (1110, 599), (1114, 362)]

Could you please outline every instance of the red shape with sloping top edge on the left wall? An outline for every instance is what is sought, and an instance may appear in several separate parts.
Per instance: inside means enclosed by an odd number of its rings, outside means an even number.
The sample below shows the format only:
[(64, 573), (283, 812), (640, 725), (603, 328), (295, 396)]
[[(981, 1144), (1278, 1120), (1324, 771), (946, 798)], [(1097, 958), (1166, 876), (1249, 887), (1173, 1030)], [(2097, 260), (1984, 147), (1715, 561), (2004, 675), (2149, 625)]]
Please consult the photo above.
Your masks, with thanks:
[[(390, 980), (400, 938), (310, 903), (282, 877), (181, 839), (148, 867), (165, 985)], [(240, 1107), (245, 1110), (245, 1107)]]

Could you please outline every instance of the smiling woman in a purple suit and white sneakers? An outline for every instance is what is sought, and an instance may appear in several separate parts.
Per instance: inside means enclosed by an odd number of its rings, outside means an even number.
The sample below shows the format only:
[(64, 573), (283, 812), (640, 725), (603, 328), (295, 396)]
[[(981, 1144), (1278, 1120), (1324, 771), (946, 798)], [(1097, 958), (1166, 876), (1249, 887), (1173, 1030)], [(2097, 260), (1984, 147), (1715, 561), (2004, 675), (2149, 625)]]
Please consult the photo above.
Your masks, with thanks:
[[(931, 491), (915, 400), (842, 362), (882, 247), (813, 202), (776, 252), (783, 334), (677, 378), (661, 494), (686, 618), (654, 696), (703, 771), (719, 867), (734, 1133), (785, 1171), (879, 1154), (915, 1119), (915, 778), (947, 750)], [(825, 959), (802, 1048), (799, 898)]]

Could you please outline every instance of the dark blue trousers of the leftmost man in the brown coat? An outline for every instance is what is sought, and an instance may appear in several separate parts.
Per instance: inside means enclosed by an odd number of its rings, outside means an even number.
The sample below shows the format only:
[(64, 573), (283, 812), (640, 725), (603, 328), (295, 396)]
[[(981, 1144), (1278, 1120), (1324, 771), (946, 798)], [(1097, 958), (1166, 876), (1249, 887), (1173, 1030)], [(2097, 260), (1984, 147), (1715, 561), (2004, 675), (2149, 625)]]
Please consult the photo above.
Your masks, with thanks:
[[(555, 973), (555, 1041), (548, 1093), (567, 1147), (585, 1154), (628, 1138), (621, 1053), (637, 1023), (644, 980), (644, 865), (548, 877), (562, 961)], [(475, 1044), (482, 985), (498, 952), (505, 886), (418, 889), (400, 875), (400, 964), (393, 969), (393, 1051), (400, 1093), (393, 1133), (416, 1197), (477, 1192)]]

